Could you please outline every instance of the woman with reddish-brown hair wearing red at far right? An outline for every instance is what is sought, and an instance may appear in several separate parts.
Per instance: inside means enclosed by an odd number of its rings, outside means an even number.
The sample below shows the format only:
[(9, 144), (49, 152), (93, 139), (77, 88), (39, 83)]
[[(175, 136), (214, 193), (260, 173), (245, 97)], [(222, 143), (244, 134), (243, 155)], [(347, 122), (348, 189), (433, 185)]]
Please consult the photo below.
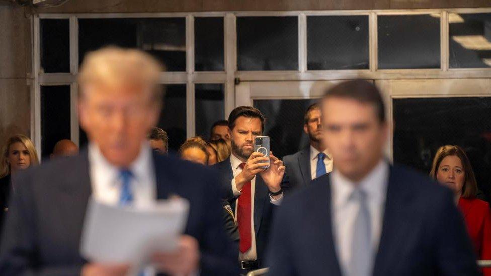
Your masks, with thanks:
[[(487, 202), (476, 198), (477, 183), (464, 150), (459, 146), (440, 147), (430, 176), (455, 193), (455, 202), (464, 215), (478, 258), (491, 260), (491, 211)], [(491, 268), (483, 272), (491, 276)]]

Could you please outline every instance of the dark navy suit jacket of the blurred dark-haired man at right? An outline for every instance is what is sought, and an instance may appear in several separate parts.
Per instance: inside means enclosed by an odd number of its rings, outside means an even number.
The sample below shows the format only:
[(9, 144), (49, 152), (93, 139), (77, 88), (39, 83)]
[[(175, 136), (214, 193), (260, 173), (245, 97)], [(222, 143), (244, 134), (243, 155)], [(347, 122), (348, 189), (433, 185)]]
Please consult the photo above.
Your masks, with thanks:
[[(268, 275), (341, 276), (331, 222), (330, 176), (291, 195), (277, 212)], [(427, 177), (391, 167), (373, 275), (478, 275), (453, 194)]]

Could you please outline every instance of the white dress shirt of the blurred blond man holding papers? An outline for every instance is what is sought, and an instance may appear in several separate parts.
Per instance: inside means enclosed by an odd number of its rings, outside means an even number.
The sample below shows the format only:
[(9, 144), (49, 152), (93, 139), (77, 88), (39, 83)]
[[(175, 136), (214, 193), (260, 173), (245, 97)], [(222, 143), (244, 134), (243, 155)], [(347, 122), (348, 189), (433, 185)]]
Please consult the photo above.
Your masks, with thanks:
[[(109, 163), (95, 144), (89, 145), (89, 168), (92, 194), (95, 200), (109, 205), (117, 205), (122, 185), (119, 171), (122, 168)], [(148, 144), (142, 145), (140, 154), (126, 169), (129, 169), (134, 176), (131, 179), (132, 206), (145, 208), (153, 205), (157, 198), (157, 184), (151, 149)]]

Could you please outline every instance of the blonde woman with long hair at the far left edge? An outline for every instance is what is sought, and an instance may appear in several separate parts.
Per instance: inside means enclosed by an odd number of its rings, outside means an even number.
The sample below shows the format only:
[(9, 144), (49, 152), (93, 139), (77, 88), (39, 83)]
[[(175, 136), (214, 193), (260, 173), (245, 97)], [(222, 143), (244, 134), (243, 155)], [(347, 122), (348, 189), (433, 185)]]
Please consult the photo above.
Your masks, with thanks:
[(11, 176), (19, 170), (38, 165), (39, 159), (36, 149), (29, 138), (22, 134), (10, 137), (2, 148), (0, 157), (0, 225), (4, 213), (7, 211), (7, 202), (11, 190)]

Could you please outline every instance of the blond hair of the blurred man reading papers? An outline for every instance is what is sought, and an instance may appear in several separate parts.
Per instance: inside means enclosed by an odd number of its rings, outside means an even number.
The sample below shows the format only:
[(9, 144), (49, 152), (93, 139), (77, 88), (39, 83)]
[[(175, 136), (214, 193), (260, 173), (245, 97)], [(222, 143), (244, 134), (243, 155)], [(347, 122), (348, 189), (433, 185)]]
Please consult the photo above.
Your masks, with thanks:
[(80, 95), (84, 96), (89, 86), (115, 88), (125, 85), (149, 89), (153, 93), (152, 98), (159, 99), (158, 79), (161, 71), (161, 64), (141, 50), (105, 47), (88, 53), (80, 66)]

